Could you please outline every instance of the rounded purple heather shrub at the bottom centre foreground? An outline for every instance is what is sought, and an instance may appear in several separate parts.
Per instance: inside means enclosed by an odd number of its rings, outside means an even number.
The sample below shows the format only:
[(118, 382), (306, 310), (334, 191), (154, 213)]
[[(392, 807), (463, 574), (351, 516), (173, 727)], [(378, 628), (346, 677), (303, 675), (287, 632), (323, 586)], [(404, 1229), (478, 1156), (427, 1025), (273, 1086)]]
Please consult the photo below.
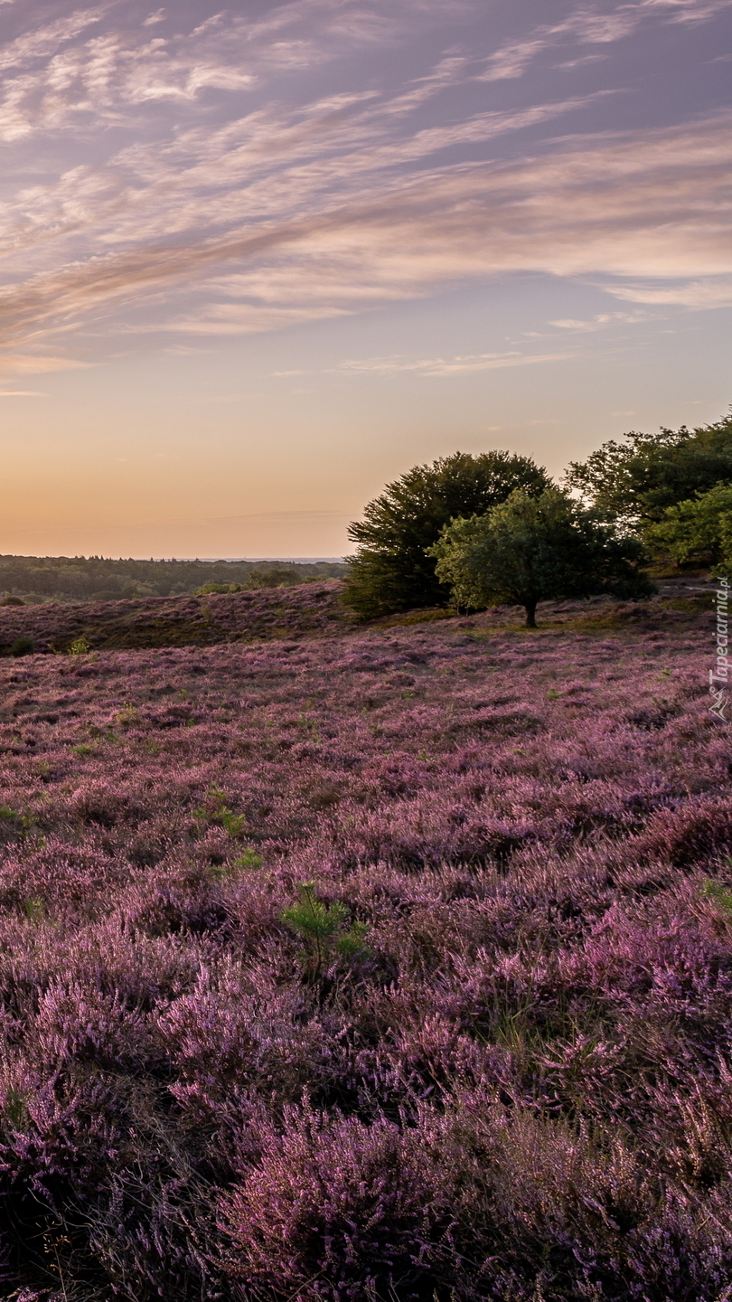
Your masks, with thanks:
[(233, 1277), (272, 1297), (432, 1298), (430, 1238), (445, 1211), (423, 1137), (303, 1107), (220, 1204)]

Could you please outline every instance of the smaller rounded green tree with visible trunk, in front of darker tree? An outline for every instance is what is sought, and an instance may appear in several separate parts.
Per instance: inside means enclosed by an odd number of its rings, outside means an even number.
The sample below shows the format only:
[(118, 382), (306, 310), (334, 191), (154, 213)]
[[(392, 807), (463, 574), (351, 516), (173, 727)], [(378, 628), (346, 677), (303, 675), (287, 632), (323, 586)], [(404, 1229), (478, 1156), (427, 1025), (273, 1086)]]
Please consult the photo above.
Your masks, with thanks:
[(537, 628), (538, 602), (654, 591), (637, 568), (641, 543), (557, 488), (538, 497), (518, 488), (485, 516), (452, 521), (430, 553), (458, 605), (522, 605), (529, 629)]

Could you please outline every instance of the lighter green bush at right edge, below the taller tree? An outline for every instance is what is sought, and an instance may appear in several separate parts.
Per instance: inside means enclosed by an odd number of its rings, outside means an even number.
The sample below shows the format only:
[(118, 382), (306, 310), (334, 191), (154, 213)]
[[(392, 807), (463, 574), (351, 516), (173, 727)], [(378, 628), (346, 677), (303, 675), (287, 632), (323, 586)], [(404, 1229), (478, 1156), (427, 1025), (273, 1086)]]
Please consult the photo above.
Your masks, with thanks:
[(732, 566), (732, 483), (667, 506), (645, 538), (655, 555), (671, 555), (680, 565), (696, 560)]

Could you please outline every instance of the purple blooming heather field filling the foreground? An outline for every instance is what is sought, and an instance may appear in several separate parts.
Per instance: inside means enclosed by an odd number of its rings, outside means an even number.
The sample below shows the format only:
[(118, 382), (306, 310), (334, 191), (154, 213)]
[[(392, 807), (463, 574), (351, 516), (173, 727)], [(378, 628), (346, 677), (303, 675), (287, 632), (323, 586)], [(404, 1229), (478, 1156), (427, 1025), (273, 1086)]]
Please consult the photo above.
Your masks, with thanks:
[(0, 659), (3, 1297), (732, 1298), (711, 615), (202, 600)]

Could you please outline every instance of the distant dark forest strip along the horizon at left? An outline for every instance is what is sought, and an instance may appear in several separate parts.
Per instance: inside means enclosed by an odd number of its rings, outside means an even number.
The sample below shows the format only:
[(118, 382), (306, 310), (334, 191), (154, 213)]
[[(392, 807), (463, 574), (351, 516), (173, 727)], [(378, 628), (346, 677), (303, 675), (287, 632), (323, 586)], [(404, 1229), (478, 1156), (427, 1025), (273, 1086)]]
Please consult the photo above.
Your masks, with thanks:
[[(102, 556), (0, 556), (0, 602), (113, 602), (135, 596), (178, 596), (204, 585), (279, 587), (343, 578), (331, 561), (134, 561)], [(208, 589), (211, 591), (211, 589)], [(214, 589), (215, 590), (215, 589)]]

